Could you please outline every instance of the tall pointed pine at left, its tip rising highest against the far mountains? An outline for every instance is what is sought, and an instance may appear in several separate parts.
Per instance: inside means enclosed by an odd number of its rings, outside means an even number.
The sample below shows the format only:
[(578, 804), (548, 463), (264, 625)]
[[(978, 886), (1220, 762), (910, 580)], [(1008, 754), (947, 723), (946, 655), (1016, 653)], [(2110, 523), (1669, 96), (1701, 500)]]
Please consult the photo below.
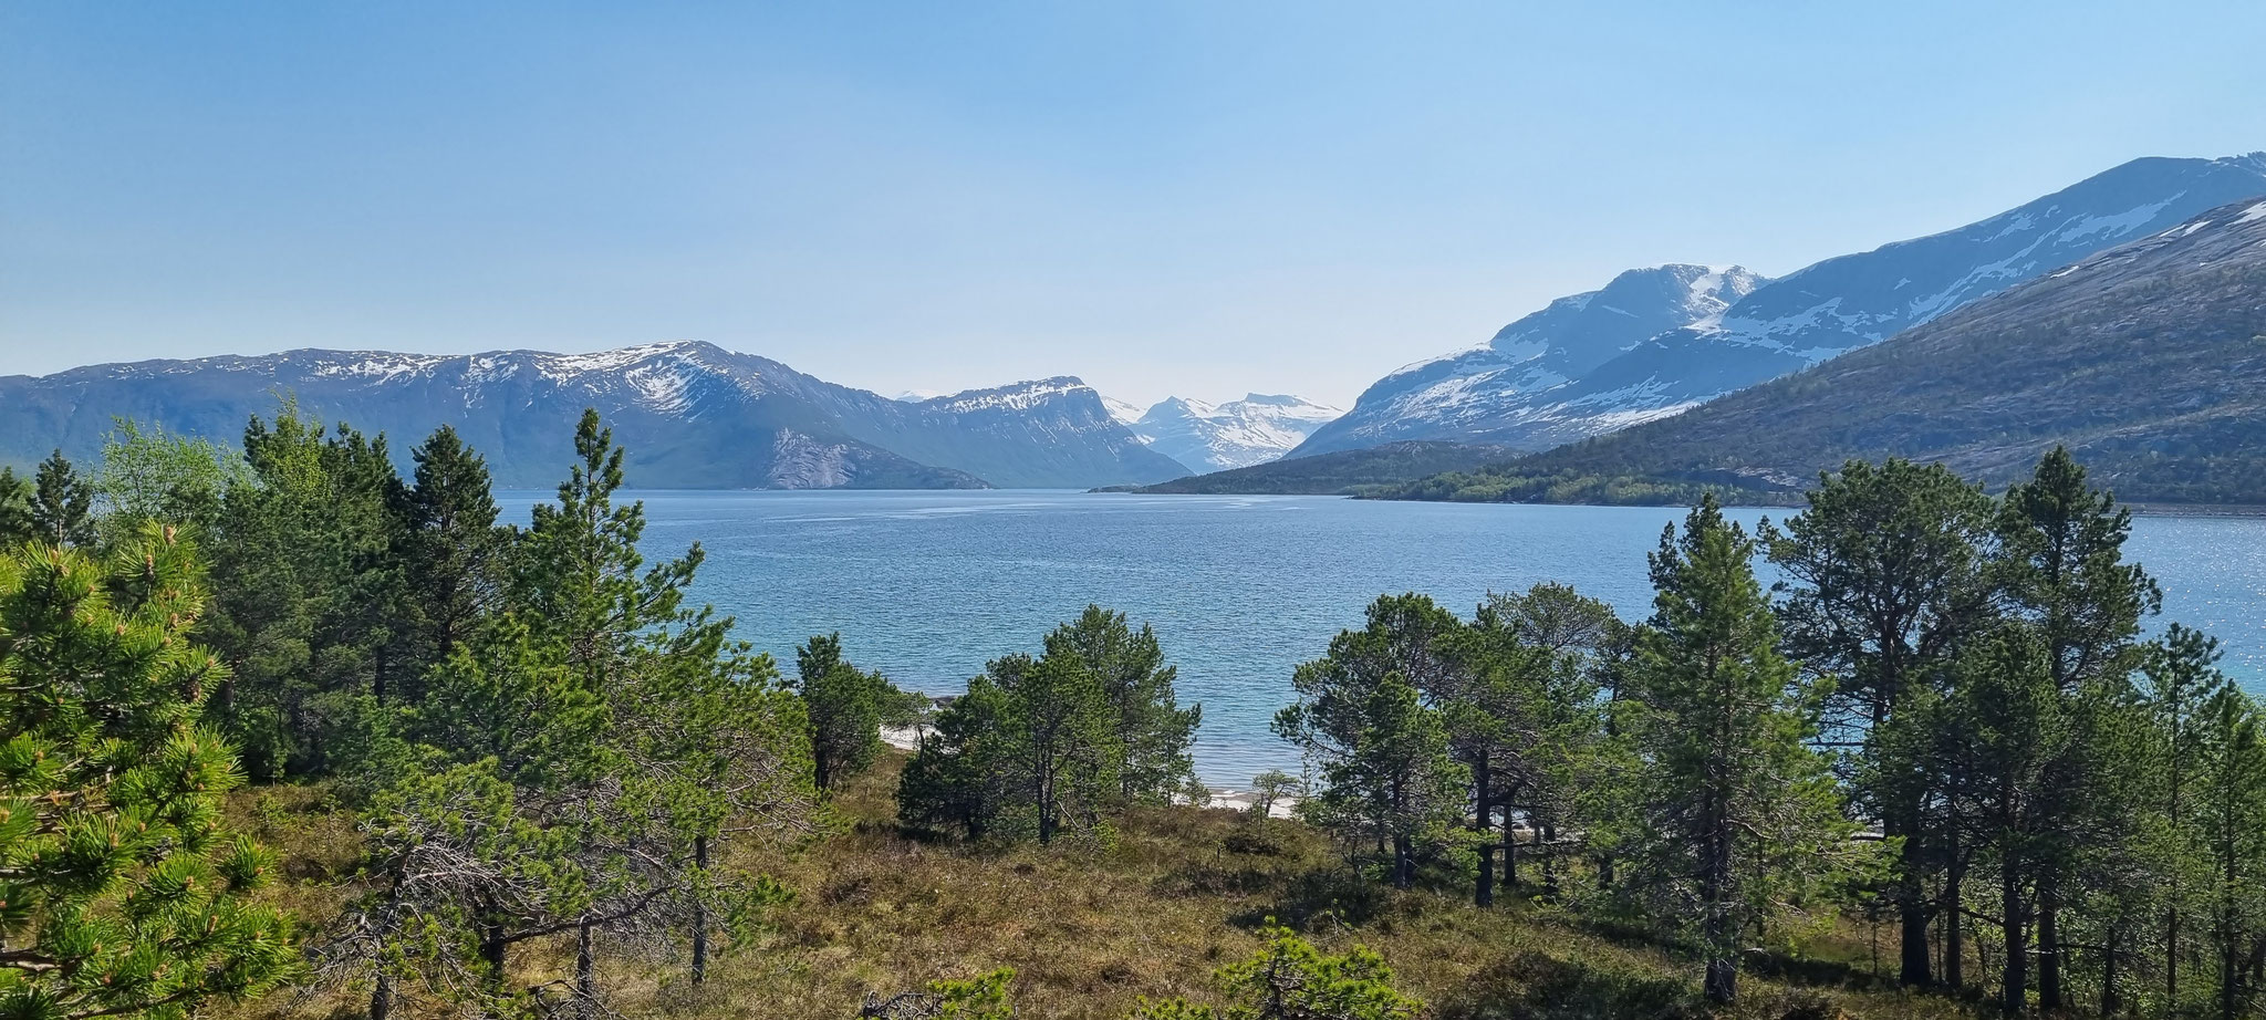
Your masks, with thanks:
[[(637, 925), (671, 925), (668, 907), (684, 904), (705, 938), (709, 918), (748, 916), (741, 907), (718, 911), (725, 904), (709, 902), (716, 895), (768, 900), (768, 884), (707, 884), (709, 841), (727, 818), (782, 811), (800, 825), (809, 811), (809, 798), (777, 766), (809, 766), (807, 723), (789, 700), (766, 703), (773, 719), (759, 728), (766, 739), (757, 746), (689, 739), (700, 730), (689, 719), (725, 721), (734, 687), (777, 691), (777, 673), (768, 657), (752, 657), (746, 644), (730, 639), (730, 617), (687, 607), (684, 589), (702, 562), (698, 544), (682, 558), (646, 567), (637, 546), (646, 528), (644, 503), (614, 501), (625, 481), (623, 460), (612, 428), (596, 410), (585, 410), (569, 478), (557, 503), (535, 508), (512, 555), (508, 589), (510, 612), (539, 621), (544, 644), (605, 705), (607, 737), (594, 757), (619, 762), (600, 773), (605, 782), (596, 789), (566, 800), (571, 823), (587, 834), (580, 866), (596, 875), (596, 895), (576, 923), (573, 995), (585, 1004), (596, 997), (600, 929), (625, 934)], [(723, 703), (705, 705), (707, 698)], [(773, 777), (757, 802), (702, 780), (748, 755), (766, 759), (759, 773)]]

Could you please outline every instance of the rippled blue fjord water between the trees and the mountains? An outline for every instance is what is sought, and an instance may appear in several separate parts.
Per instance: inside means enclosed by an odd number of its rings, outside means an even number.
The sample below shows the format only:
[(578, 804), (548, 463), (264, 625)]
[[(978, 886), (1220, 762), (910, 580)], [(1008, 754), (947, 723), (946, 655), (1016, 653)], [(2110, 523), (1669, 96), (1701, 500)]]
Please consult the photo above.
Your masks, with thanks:
[[(546, 494), (512, 492), (526, 521)], [(1038, 651), (1088, 603), (1156, 626), (1203, 703), (1196, 771), (1240, 784), (1296, 768), (1267, 723), (1289, 673), (1382, 592), (1468, 614), (1486, 592), (1575, 585), (1622, 619), (1650, 612), (1645, 553), (1672, 508), (1371, 503), (1332, 496), (1083, 492), (639, 492), (648, 558), (707, 549), (696, 596), (793, 671), (809, 635), (852, 662), (952, 694), (993, 660)], [(1781, 512), (1772, 512), (1781, 515)], [(1754, 526), (1763, 510), (1733, 510)], [(2130, 555), (2164, 585), (2162, 621), (2227, 646), (2266, 689), (2266, 519), (2139, 517)]]

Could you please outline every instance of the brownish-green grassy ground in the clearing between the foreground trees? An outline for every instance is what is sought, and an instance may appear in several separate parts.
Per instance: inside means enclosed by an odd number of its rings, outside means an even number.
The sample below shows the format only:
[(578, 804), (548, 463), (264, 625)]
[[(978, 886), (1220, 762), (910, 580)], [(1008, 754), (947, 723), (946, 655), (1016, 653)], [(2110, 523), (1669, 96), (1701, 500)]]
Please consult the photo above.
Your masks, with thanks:
[[(1258, 950), (1258, 925), (1280, 918), (1330, 952), (1375, 947), (1434, 1020), (1706, 1015), (1690, 959), (1534, 902), (1480, 911), (1462, 889), (1380, 891), (1298, 823), (1176, 807), (1124, 818), (1110, 850), (922, 843), (891, 823), (897, 762), (841, 791), (838, 832), (795, 855), (736, 861), (798, 893), (770, 934), (723, 954), (702, 986), (684, 979), (684, 959), (616, 961), (603, 975), (614, 1009), (854, 1018), (866, 993), (1011, 966), (1022, 1018), (1117, 1020), (1144, 995), (1208, 997), (1212, 970)], [(290, 859), (292, 882), (274, 895), (304, 916), (333, 911), (353, 836), (320, 791), (254, 791), (240, 814)], [(514, 981), (562, 977), (569, 941), (517, 952)], [(1824, 963), (1758, 961), (1774, 975), (1747, 975), (1743, 1002), (1720, 1015), (1971, 1015), (1879, 984), (1869, 945), (1872, 932), (1856, 927), (1817, 950)], [(242, 1015), (358, 1015), (360, 995), (276, 995)]]

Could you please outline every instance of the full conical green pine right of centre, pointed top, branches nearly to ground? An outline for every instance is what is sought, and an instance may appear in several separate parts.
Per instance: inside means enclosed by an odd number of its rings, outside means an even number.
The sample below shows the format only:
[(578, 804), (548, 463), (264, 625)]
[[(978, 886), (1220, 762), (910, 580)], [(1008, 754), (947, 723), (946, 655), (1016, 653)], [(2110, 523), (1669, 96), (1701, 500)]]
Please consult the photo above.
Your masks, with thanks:
[(1706, 954), (1709, 1002), (1738, 995), (1749, 932), (1854, 855), (1854, 825), (1824, 759), (1808, 748), (1817, 691), (1779, 655), (1754, 580), (1754, 539), (1713, 499), (1652, 553), (1654, 617), (1641, 637), (1622, 728), (1643, 759), (1627, 818), (1607, 839), (1634, 857), (1661, 911)]

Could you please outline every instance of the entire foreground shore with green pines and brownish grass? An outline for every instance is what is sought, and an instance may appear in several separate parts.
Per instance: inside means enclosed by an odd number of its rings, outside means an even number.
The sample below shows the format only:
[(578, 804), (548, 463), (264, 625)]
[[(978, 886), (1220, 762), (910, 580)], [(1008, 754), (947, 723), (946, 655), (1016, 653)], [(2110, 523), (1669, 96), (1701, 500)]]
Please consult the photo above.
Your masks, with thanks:
[(403, 474), (292, 403), (0, 474), (0, 1015), (2266, 1006), (2257, 703), (2064, 451), (1697, 494), (1645, 619), (1385, 594), (1224, 811), (1144, 623), (943, 703), (775, 662), (573, 449), (523, 524), (453, 431)]

